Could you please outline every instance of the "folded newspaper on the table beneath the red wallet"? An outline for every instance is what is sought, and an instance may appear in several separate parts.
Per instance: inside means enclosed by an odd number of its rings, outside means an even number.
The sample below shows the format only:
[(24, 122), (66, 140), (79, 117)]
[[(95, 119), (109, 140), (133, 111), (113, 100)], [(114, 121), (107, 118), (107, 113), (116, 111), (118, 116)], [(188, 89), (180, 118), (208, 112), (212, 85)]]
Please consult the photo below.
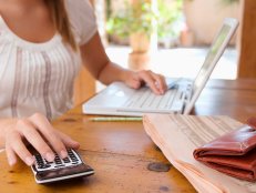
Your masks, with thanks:
[(146, 133), (168, 161), (202, 193), (256, 192), (256, 183), (240, 181), (197, 162), (193, 151), (243, 124), (228, 116), (146, 114)]

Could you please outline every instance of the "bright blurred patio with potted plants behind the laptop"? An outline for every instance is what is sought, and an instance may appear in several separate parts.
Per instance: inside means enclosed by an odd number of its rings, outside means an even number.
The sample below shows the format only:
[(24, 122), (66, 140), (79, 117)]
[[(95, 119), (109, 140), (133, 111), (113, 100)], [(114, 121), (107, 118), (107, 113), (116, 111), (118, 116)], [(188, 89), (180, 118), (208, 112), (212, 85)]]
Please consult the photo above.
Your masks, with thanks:
[[(198, 72), (224, 18), (240, 20), (240, 1), (91, 0), (99, 32), (113, 62), (133, 70), (185, 78), (194, 78)], [(238, 33), (239, 30), (212, 79), (237, 78)], [(96, 82), (95, 91), (102, 88)]]

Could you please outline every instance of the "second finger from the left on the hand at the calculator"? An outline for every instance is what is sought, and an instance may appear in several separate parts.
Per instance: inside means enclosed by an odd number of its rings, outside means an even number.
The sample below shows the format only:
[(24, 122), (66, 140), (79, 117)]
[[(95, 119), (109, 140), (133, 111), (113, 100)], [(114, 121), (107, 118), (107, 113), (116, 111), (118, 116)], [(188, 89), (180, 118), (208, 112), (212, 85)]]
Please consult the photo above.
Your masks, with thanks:
[[(31, 155), (31, 153), (28, 151), (25, 145), (23, 144), (21, 136), (18, 132), (13, 132), (11, 135), (9, 135), (9, 145), (10, 149), (13, 150), (16, 154), (29, 166), (31, 166), (34, 163), (34, 158)], [(12, 156), (12, 155), (11, 155)]]

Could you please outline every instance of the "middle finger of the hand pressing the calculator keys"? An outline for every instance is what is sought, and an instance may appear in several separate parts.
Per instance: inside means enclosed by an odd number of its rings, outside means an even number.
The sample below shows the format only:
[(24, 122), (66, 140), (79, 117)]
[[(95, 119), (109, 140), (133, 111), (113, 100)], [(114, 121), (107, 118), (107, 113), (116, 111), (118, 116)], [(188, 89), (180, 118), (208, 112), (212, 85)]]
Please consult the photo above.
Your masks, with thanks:
[(17, 122), (18, 131), (25, 138), (25, 140), (49, 162), (54, 160), (54, 153), (48, 143), (43, 140), (41, 134), (37, 131), (34, 125), (28, 120)]

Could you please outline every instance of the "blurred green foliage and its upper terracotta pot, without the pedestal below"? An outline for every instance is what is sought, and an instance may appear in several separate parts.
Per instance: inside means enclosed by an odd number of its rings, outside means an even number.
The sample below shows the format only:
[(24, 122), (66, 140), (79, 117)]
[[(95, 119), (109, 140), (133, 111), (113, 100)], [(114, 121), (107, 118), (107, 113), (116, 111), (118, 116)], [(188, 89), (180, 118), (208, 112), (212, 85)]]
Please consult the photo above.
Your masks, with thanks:
[(155, 19), (156, 14), (150, 1), (137, 0), (134, 3), (125, 1), (121, 10), (110, 16), (106, 30), (110, 34), (130, 38), (133, 52), (146, 52), (150, 49)]

